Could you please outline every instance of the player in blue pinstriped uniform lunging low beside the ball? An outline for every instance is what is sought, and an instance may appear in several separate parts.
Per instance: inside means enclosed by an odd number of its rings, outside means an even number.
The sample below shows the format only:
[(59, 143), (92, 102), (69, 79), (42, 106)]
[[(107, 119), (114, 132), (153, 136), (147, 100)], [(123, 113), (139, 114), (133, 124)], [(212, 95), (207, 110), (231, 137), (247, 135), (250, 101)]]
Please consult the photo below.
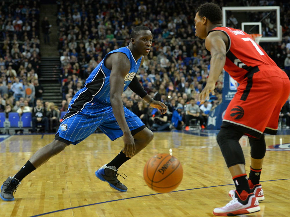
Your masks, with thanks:
[(57, 155), (69, 144), (76, 145), (99, 127), (112, 141), (123, 136), (124, 148), (95, 175), (118, 191), (127, 187), (117, 179), (118, 168), (145, 148), (153, 139), (153, 133), (131, 111), (123, 106), (121, 95), (130, 87), (152, 107), (167, 112), (167, 106), (153, 100), (143, 89), (136, 73), (149, 54), (152, 33), (146, 26), (136, 26), (131, 32), (129, 46), (109, 52), (90, 73), (84, 88), (79, 90), (68, 106), (68, 112), (59, 127), (55, 139), (39, 149), (13, 177), (9, 176), (1, 186), (1, 198), (14, 201), (13, 192), (30, 172)]

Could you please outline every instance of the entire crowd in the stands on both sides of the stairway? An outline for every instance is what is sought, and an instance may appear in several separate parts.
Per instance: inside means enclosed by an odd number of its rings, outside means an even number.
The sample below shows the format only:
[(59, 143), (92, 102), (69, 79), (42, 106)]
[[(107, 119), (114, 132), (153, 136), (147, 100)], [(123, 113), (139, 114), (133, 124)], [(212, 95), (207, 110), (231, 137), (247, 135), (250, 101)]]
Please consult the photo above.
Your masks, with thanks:
[[(225, 1), (215, 2), (221, 7), (227, 6)], [(186, 0), (182, 4), (153, 0), (57, 1), (57, 50), (63, 96), (62, 107), (57, 108), (53, 102), (41, 101), (44, 89), (38, 82), (39, 31), (41, 27), (47, 30), (43, 29), (44, 35), (49, 31), (45, 22), (42, 25), (39, 21), (40, 0), (2, 1), (1, 111), (19, 111), (20, 114), (30, 109), (35, 115), (44, 108), (43, 117), (47, 119), (35, 116), (34, 126), (41, 122), (46, 126), (45, 131), (54, 131), (61, 120), (60, 112), (67, 110), (71, 98), (84, 86), (97, 64), (111, 50), (129, 44), (133, 27), (146, 25), (153, 33), (153, 46), (137, 77), (149, 95), (168, 106), (168, 113), (160, 115), (129, 88), (122, 96), (124, 105), (153, 130), (183, 129), (192, 124), (206, 127), (210, 111), (221, 103), (222, 75), (215, 95), (200, 105), (198, 94), (206, 84), (210, 67), (210, 53), (204, 42), (195, 37), (195, 9), (201, 3), (201, 0)], [(240, 0), (237, 6), (272, 3)], [(287, 2), (279, 4), (284, 38), (279, 43), (260, 45), (290, 75), (290, 8)], [(46, 42), (50, 43), (49, 38)]]

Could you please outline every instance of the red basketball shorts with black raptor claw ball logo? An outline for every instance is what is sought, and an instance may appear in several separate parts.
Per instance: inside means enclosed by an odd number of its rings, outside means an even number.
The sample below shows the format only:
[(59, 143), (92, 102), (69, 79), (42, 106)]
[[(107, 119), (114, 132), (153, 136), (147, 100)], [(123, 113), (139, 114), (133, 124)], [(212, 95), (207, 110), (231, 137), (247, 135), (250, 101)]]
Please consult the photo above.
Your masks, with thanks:
[(278, 67), (259, 66), (248, 73), (229, 103), (222, 127), (234, 125), (245, 135), (277, 134), (279, 114), (290, 93), (290, 81)]

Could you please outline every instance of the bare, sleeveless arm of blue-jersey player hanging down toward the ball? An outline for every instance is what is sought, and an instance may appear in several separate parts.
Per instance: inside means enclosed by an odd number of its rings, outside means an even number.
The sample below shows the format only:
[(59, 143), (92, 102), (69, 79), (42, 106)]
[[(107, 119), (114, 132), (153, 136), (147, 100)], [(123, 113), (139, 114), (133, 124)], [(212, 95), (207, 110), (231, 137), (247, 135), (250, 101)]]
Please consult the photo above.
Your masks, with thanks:
[(110, 100), (114, 116), (123, 131), (124, 148), (126, 157), (132, 157), (135, 153), (135, 141), (125, 119), (122, 93), (124, 90), (124, 78), (130, 70), (130, 62), (123, 53), (111, 54), (108, 57), (107, 65), (111, 65), (110, 74)]

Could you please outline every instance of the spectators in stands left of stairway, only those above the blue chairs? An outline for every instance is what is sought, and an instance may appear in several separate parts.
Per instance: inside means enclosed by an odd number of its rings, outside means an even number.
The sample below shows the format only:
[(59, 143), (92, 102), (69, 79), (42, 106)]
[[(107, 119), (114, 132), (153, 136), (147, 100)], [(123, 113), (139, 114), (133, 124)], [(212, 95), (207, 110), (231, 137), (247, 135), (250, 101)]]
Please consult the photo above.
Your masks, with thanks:
[(40, 62), (39, 4), (32, 0), (1, 1), (0, 111), (9, 102), (14, 107), (20, 98), (35, 105)]

